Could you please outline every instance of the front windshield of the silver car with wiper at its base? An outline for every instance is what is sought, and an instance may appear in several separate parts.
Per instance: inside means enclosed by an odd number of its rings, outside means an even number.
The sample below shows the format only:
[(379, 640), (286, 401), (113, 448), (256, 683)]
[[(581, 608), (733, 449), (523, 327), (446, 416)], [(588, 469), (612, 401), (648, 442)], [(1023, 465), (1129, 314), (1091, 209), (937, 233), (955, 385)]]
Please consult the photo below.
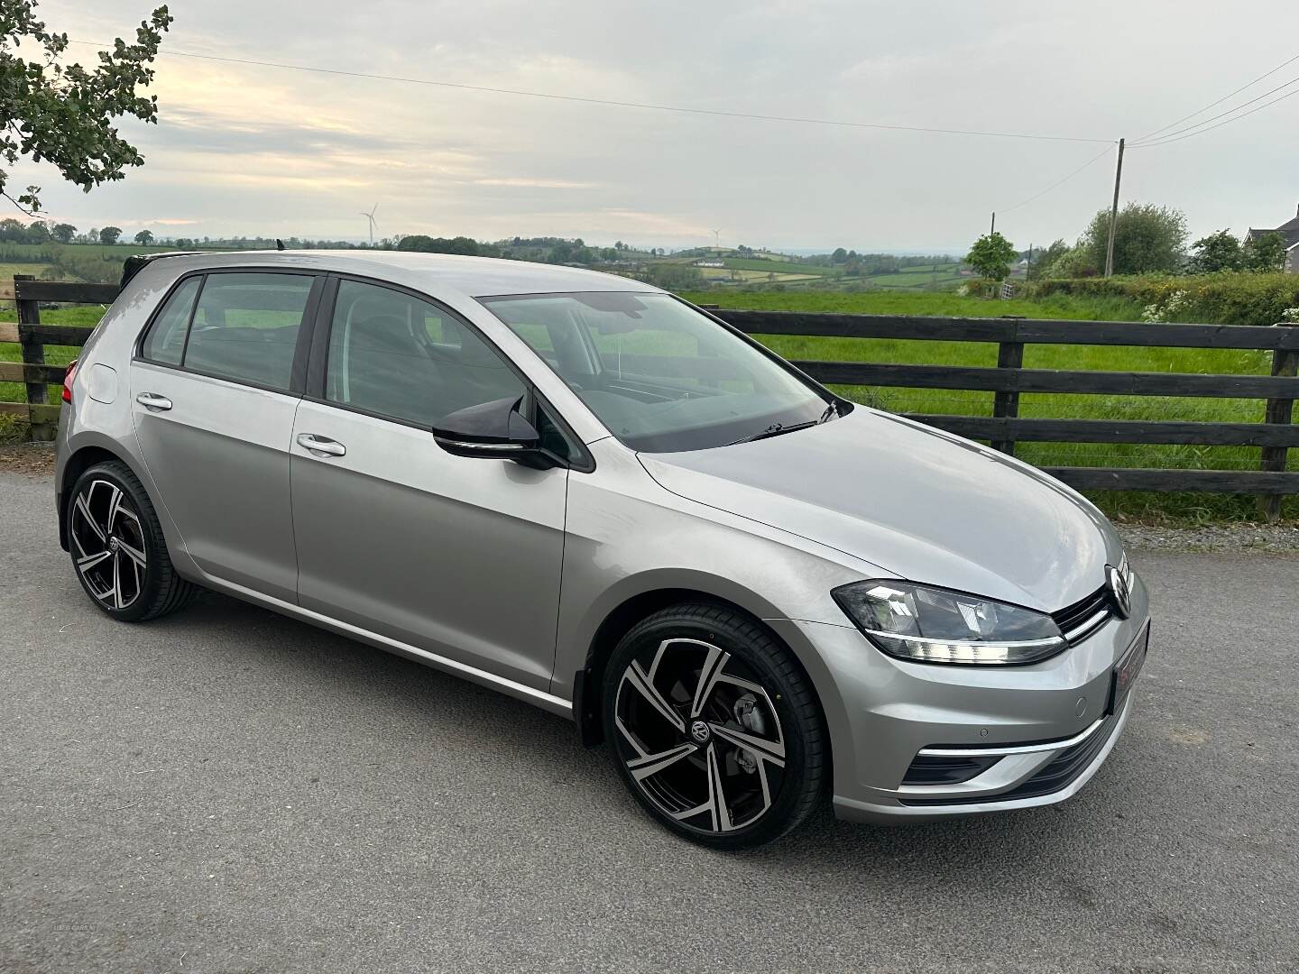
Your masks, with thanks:
[(633, 449), (721, 447), (814, 423), (826, 400), (670, 295), (479, 299)]

